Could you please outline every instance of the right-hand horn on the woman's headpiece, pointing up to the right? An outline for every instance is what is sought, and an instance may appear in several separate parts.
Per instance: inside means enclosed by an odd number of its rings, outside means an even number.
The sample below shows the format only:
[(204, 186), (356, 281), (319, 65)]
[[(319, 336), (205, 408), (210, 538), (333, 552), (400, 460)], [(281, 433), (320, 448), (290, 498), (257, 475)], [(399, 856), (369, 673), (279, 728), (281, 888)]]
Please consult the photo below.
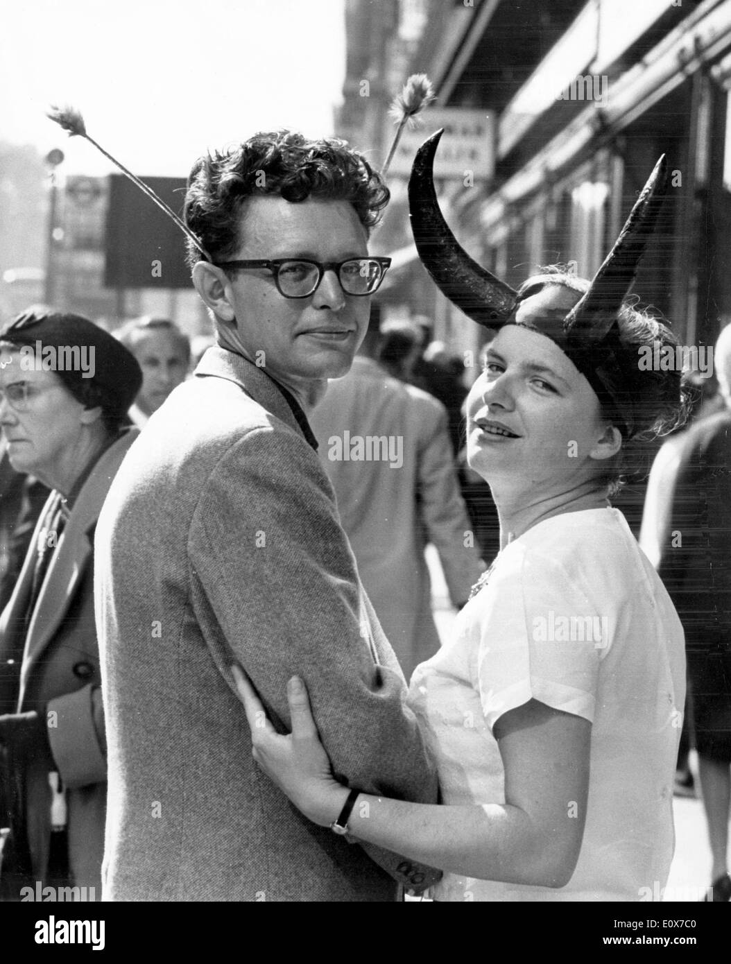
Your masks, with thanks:
[[(647, 239), (657, 225), (666, 190), (667, 163), (663, 154), (591, 287), (566, 315), (563, 323), (566, 335), (581, 333), (582, 338), (598, 341), (609, 333), (617, 311), (635, 283), (637, 266)], [(606, 317), (606, 324), (600, 323), (600, 316)]]

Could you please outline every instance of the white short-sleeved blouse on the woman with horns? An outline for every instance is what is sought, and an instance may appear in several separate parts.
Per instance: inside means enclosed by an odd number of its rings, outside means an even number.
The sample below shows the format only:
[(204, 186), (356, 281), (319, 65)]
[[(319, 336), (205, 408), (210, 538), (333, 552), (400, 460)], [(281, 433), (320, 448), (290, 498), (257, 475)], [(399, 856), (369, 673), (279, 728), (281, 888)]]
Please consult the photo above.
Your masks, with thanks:
[[(409, 702), (446, 804), (504, 803), (492, 729), (534, 699), (592, 724), (579, 863), (552, 889), (445, 874), (438, 900), (648, 900), (674, 847), (672, 782), (685, 701), (683, 628), (616, 509), (539, 522), (502, 549), (454, 639), (421, 663)], [(575, 801), (566, 801), (572, 817)]]

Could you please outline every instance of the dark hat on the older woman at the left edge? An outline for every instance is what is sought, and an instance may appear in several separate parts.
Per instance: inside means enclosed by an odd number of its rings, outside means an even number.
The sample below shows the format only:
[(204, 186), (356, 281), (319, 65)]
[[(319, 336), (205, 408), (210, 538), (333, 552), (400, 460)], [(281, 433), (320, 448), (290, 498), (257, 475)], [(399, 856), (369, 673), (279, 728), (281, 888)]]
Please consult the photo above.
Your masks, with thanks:
[[(142, 369), (113, 335), (88, 318), (31, 308), (0, 329), (0, 342), (29, 346), (87, 408), (122, 419), (142, 386)], [(83, 367), (82, 367), (83, 366)]]

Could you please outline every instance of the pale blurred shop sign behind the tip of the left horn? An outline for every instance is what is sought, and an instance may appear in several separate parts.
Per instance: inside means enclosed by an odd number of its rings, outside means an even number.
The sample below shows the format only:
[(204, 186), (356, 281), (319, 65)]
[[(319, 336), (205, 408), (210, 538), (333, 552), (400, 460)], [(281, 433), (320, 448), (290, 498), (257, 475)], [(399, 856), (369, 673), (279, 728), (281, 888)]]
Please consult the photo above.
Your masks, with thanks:
[[(408, 177), (417, 150), (427, 137), (444, 127), (434, 159), (434, 176), (467, 182), (490, 180), (495, 173), (495, 114), (465, 107), (427, 107), (421, 125), (404, 130), (389, 175)], [(391, 122), (384, 138), (385, 150), (393, 140)]]

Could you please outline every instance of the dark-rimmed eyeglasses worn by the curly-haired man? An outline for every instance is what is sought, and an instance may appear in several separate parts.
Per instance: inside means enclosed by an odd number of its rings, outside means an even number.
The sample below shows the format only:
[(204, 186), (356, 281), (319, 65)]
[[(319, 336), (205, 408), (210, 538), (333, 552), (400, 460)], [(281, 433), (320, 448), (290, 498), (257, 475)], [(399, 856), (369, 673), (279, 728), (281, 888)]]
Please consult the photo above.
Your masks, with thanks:
[(390, 257), (351, 257), (347, 261), (311, 261), (309, 258), (275, 257), (243, 261), (216, 261), (217, 268), (268, 268), (284, 298), (309, 298), (326, 271), (335, 271), (347, 295), (372, 295), (391, 266)]

